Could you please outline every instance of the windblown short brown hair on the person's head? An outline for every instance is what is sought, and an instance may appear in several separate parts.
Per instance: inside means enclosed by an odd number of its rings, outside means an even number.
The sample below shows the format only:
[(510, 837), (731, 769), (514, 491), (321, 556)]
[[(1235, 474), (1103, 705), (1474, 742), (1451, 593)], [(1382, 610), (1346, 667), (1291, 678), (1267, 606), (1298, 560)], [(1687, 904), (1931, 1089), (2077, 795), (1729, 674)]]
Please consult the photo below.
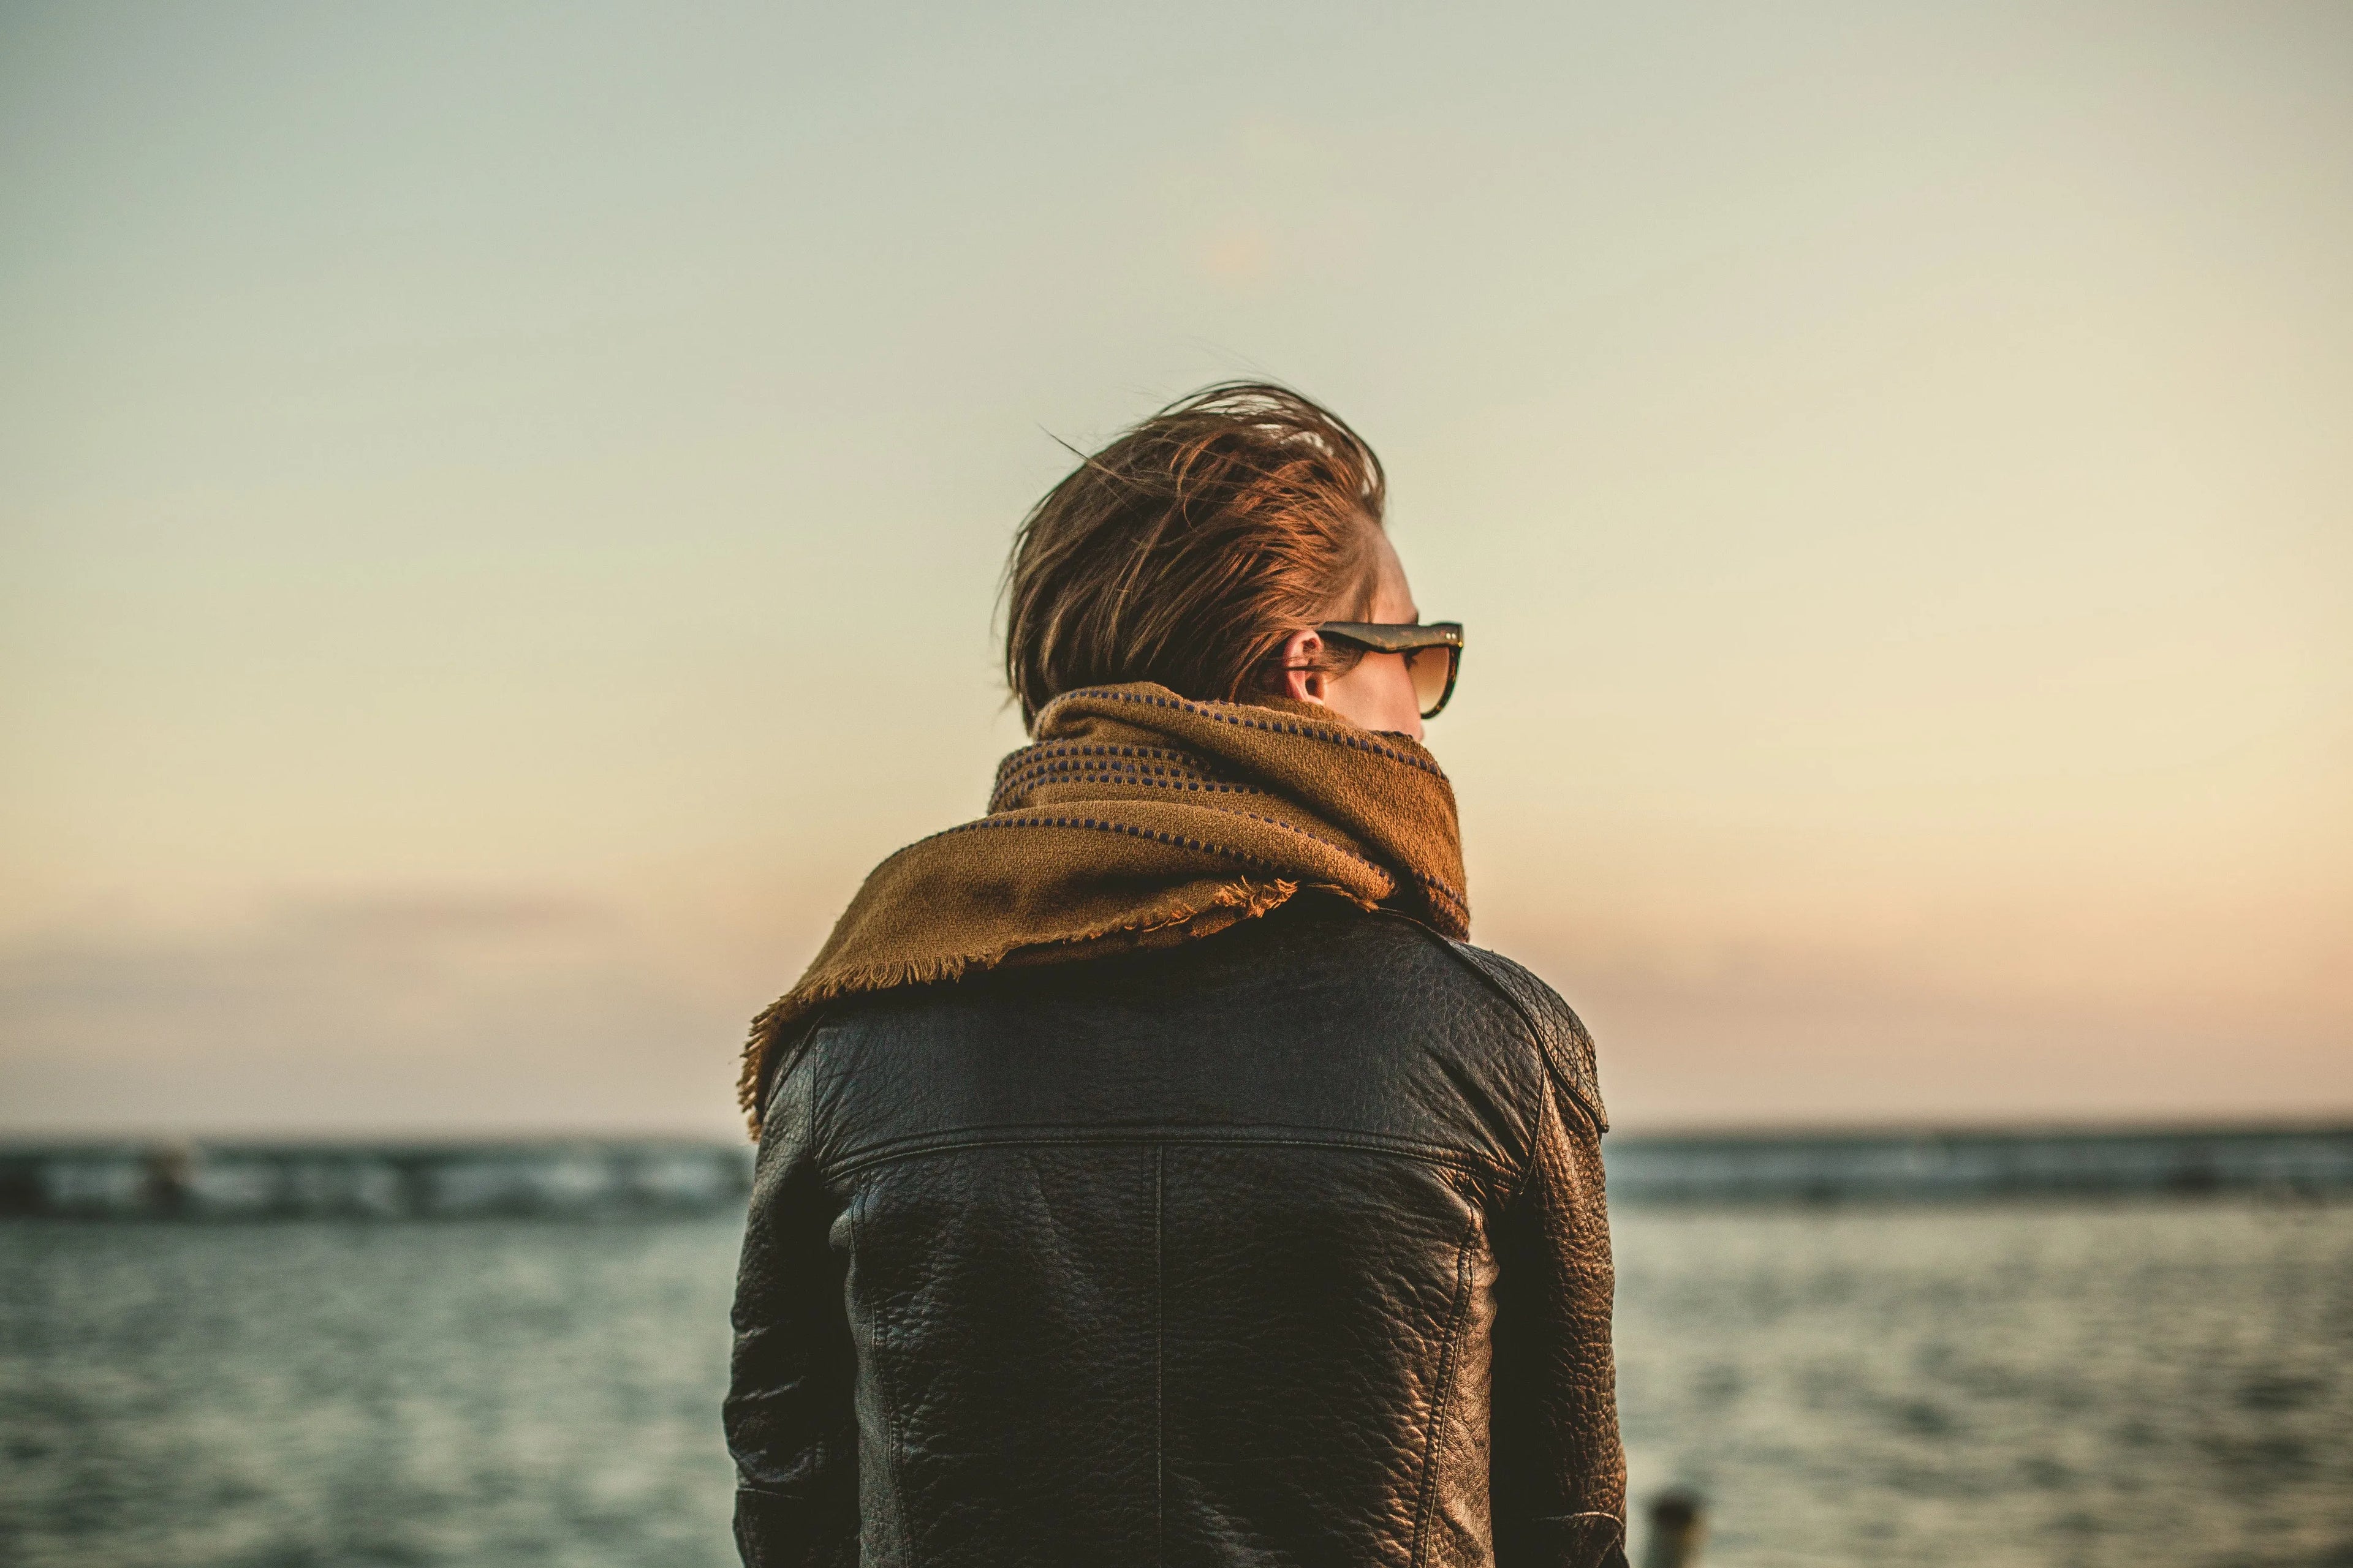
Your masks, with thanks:
[(1384, 503), (1372, 447), (1285, 386), (1228, 381), (1160, 409), (1014, 534), (1005, 682), (1021, 722), (1078, 686), (1233, 701), (1271, 684), (1285, 637), (1369, 614)]

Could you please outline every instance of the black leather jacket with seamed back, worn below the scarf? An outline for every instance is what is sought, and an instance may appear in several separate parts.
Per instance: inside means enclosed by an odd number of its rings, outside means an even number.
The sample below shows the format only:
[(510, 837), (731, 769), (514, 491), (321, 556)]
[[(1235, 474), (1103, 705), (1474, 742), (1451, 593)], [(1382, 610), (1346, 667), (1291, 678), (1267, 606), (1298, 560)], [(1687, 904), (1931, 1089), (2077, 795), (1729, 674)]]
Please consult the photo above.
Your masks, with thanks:
[(1593, 1044), (1301, 896), (831, 1011), (767, 1100), (746, 1563), (1621, 1563)]

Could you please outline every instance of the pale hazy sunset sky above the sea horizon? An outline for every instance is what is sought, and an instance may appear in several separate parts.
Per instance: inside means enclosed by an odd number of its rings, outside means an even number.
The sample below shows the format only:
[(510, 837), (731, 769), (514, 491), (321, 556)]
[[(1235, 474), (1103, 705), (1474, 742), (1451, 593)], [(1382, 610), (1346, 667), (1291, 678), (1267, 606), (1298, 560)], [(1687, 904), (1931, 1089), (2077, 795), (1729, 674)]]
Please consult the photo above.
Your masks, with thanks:
[(727, 1133), (1205, 381), (1621, 1131), (2353, 1114), (2353, 7), (0, 9), (0, 1133)]

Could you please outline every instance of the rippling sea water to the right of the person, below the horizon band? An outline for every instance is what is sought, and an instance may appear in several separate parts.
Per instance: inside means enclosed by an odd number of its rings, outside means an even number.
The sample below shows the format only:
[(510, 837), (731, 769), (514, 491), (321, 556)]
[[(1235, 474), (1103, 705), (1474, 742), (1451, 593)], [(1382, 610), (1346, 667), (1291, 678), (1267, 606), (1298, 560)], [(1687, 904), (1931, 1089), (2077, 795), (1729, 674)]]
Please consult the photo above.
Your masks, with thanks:
[(2353, 1568), (2353, 1206), (1614, 1232), (1633, 1495), (1706, 1497), (1704, 1561)]

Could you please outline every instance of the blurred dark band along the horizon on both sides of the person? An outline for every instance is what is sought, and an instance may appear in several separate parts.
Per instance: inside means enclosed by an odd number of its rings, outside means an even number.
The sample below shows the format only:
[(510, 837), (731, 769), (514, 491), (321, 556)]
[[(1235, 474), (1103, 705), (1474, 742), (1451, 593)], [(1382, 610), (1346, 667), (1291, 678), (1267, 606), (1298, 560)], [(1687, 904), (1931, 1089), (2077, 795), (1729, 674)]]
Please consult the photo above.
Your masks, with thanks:
[[(1614, 1204), (2353, 1197), (2353, 1126), (1612, 1135)], [(0, 1145), (0, 1218), (664, 1220), (739, 1213), (751, 1150), (692, 1140)]]

